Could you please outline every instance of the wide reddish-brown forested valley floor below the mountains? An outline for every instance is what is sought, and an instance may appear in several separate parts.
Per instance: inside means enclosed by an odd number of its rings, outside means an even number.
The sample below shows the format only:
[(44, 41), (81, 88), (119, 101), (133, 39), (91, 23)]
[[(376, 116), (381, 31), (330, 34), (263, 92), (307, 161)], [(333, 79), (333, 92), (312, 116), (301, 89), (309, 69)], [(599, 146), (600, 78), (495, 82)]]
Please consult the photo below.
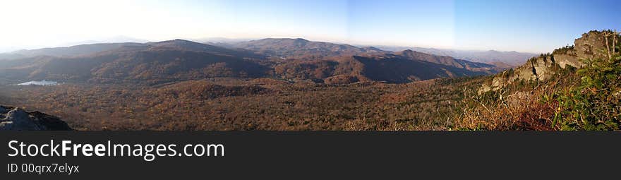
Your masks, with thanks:
[(0, 94), (78, 130), (415, 130), (450, 126), (460, 92), (474, 84), (214, 78), (154, 86), (1, 86)]

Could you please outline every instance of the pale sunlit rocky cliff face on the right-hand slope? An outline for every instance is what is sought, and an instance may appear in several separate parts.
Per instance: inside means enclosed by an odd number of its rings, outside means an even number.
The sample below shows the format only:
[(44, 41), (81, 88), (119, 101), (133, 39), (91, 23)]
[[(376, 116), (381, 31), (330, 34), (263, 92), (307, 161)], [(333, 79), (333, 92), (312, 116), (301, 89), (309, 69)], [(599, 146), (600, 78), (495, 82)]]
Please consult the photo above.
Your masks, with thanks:
[[(610, 40), (609, 40), (610, 41)], [(611, 41), (610, 41), (611, 42)], [(552, 54), (542, 54), (526, 61), (526, 64), (515, 68), (513, 71), (504, 71), (494, 76), (491, 83), (483, 84), (479, 92), (499, 90), (513, 82), (545, 81), (554, 73), (555, 68), (567, 68), (572, 66), (580, 68), (580, 59), (603, 59), (607, 57), (605, 52), (605, 38), (603, 32), (591, 31), (584, 33), (582, 37), (574, 40), (574, 46), (556, 49)]]

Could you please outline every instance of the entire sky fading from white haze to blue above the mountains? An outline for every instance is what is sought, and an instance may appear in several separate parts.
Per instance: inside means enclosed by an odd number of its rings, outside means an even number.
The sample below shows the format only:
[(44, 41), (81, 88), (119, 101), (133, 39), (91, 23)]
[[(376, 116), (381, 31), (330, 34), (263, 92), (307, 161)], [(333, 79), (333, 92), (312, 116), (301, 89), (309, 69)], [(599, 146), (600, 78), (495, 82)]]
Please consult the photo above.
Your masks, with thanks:
[(120, 35), (550, 52), (589, 30), (621, 30), (620, 9), (615, 0), (0, 0), (0, 52)]

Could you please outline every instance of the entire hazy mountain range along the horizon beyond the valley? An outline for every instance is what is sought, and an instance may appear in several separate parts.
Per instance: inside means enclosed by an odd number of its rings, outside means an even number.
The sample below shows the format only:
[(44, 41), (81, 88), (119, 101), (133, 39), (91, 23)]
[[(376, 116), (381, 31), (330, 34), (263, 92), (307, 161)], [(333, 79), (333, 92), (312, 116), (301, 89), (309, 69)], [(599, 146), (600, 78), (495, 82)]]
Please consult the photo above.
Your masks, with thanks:
[[(268, 38), (229, 45), (188, 40), (99, 43), (0, 54), (9, 80), (162, 83), (201, 78), (287, 78), (320, 83), (408, 83), (498, 73), (506, 66), (376, 47)], [(68, 68), (71, 67), (71, 68)]]

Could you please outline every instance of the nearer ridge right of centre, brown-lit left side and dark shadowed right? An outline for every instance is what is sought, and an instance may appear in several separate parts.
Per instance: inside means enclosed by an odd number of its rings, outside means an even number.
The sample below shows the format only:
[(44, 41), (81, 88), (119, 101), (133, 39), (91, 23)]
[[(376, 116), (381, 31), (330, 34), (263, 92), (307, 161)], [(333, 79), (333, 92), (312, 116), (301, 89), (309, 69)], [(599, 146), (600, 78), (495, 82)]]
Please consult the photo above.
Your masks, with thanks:
[(409, 83), (433, 78), (489, 74), (485, 71), (471, 71), (467, 68), (437, 64), (397, 54), (288, 61), (276, 66), (275, 73), (283, 78), (315, 79), (325, 83), (354, 83), (368, 80)]

